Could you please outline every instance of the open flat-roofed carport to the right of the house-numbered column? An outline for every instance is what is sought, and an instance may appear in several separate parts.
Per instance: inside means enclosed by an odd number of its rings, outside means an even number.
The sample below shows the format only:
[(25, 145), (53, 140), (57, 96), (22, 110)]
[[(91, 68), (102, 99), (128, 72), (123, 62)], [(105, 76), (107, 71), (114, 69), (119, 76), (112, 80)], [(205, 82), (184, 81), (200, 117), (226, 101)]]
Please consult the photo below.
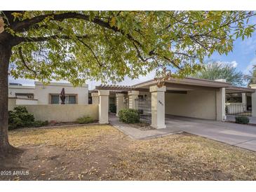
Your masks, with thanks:
[[(136, 85), (150, 88), (156, 81)], [(230, 86), (223, 81), (197, 78), (170, 79), (165, 81), (165, 114), (210, 120), (224, 120), (225, 90)]]

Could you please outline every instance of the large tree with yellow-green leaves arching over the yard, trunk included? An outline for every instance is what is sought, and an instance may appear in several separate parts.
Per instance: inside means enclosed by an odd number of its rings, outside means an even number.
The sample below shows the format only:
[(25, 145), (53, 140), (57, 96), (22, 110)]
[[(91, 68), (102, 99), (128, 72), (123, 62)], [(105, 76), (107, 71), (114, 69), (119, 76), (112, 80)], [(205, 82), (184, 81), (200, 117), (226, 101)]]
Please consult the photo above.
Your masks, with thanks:
[[(0, 153), (8, 142), (8, 74), (48, 82), (121, 81), (156, 69), (184, 77), (255, 29), (246, 11), (1, 11)], [(1, 26), (1, 25), (0, 25)]]

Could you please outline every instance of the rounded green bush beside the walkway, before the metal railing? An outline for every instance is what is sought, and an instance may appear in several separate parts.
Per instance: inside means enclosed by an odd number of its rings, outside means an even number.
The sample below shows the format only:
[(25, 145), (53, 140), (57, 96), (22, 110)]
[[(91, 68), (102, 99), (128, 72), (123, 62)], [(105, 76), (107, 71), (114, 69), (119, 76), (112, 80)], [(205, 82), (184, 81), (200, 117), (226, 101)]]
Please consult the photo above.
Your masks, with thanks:
[(119, 121), (123, 123), (139, 123), (140, 114), (136, 109), (121, 109), (119, 111)]

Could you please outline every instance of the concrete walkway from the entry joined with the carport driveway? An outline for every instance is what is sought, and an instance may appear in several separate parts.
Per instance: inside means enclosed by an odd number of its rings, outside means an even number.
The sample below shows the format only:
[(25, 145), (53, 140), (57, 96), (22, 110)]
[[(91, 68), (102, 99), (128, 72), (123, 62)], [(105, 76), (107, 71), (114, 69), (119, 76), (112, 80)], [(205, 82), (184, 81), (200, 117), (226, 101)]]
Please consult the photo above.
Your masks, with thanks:
[(256, 151), (256, 126), (240, 125), (196, 118), (166, 116), (166, 129), (138, 130), (120, 123), (115, 116), (109, 116), (110, 123), (133, 139), (150, 139), (180, 132), (207, 137), (244, 149)]

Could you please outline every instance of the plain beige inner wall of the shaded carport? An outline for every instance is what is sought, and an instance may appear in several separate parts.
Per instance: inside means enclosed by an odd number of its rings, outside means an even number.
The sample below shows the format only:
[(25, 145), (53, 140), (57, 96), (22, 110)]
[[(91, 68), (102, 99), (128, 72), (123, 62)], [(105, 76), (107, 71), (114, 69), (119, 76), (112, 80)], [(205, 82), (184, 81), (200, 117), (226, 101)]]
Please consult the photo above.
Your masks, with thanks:
[(215, 90), (191, 90), (187, 94), (166, 93), (166, 114), (216, 119)]

